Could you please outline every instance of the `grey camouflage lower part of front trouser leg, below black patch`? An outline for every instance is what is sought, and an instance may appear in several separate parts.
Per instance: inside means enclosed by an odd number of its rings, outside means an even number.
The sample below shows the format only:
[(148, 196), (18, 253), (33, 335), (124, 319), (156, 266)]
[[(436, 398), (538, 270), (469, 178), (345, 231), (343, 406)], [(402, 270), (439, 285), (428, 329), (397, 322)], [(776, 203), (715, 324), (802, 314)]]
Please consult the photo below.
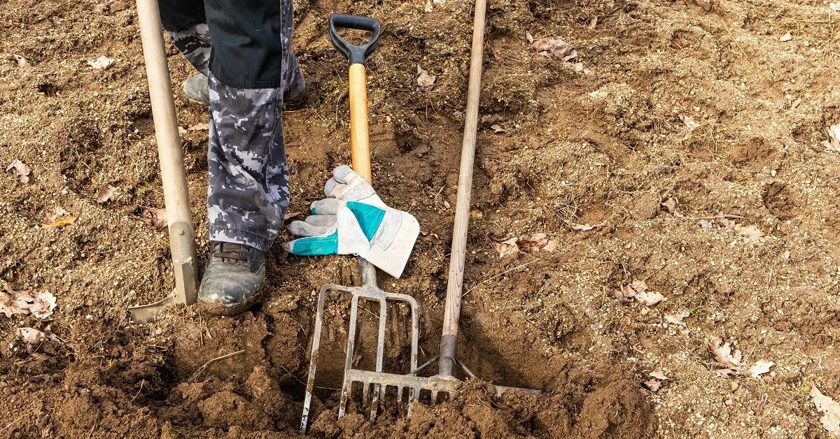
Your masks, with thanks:
[(210, 74), (210, 239), (267, 250), (289, 206), (281, 88), (234, 88)]

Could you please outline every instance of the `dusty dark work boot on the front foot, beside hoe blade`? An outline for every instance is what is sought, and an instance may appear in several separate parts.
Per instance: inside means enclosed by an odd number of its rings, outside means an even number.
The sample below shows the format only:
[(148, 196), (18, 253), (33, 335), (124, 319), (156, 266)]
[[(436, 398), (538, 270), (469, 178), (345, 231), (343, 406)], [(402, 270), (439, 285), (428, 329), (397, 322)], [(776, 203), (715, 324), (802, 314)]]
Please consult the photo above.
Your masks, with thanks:
[(211, 243), (198, 301), (217, 316), (235, 316), (261, 299), (265, 252), (243, 244)]

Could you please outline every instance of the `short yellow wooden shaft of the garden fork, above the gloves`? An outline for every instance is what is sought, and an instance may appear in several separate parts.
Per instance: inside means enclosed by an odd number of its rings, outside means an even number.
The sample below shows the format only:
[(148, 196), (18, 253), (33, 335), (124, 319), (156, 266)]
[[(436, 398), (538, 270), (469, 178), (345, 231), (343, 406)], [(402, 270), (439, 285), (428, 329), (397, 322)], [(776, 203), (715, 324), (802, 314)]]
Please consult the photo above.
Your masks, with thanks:
[(372, 183), (367, 114), (367, 75), (364, 64), (350, 65), (350, 156), (353, 170)]

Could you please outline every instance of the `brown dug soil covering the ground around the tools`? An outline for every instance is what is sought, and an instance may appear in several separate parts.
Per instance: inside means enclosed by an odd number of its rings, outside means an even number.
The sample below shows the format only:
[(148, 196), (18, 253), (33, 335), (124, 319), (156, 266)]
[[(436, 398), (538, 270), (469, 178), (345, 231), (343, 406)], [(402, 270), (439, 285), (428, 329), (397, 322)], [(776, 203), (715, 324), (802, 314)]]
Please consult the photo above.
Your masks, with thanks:
[[(173, 286), (168, 239), (142, 221), (163, 198), (134, 4), (3, 6), (0, 164), (19, 159), (32, 174), (0, 178), (0, 280), (58, 306), (45, 319), (0, 315), (2, 435), (296, 436), (316, 291), (358, 283), (354, 259), (276, 246), (268, 299), (243, 316), (181, 307), (130, 322), (128, 306)], [(380, 283), (422, 306), (423, 363), (443, 315), (471, 4), (295, 9), (312, 99), (285, 114), (291, 212), (349, 162), (328, 14), (383, 23), (368, 65), (374, 183), (423, 235), (402, 278)], [(480, 109), (491, 123), (478, 136), (459, 341), (480, 380), (409, 418), (337, 420), (348, 301), (329, 295), (310, 434), (826, 435), (808, 390), (840, 399), (840, 155), (822, 144), (840, 122), (837, 23), (824, 2), (491, 0)], [(538, 54), (529, 35), (577, 56)], [(177, 85), (194, 71), (168, 50)], [(113, 65), (87, 64), (102, 55)], [(417, 89), (418, 65), (436, 76), (432, 91)], [(207, 134), (190, 128), (207, 111), (180, 92), (176, 110), (203, 255)], [(108, 185), (116, 195), (97, 202)], [(58, 207), (76, 222), (43, 227)], [(494, 244), (510, 238), (521, 251), (502, 258)], [(622, 287), (642, 292), (627, 286), (638, 281), (667, 300), (617, 299)], [(684, 310), (682, 325), (666, 320)], [(361, 312), (360, 367), (372, 361), (371, 314)], [(386, 370), (407, 373), (407, 314), (391, 316)], [(59, 338), (28, 349), (18, 327)], [(715, 338), (743, 353), (737, 374), (716, 372), (727, 366), (708, 348)], [(753, 377), (759, 360), (774, 366)], [(643, 384), (654, 371), (668, 377), (659, 389)], [(543, 395), (496, 397), (487, 382)]]

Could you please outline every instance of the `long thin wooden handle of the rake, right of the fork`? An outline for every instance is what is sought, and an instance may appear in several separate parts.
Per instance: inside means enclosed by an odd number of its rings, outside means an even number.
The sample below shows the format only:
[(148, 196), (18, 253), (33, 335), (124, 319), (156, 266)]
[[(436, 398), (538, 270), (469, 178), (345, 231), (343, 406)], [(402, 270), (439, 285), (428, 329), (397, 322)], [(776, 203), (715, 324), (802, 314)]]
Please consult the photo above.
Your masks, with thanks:
[(461, 290), (464, 286), (464, 263), (467, 252), (467, 228), (470, 225), (470, 192), (475, 161), (475, 133), (478, 128), (478, 104), (481, 91), (481, 64), (484, 49), (486, 0), (475, 0), (472, 51), (470, 54), (470, 86), (467, 88), (467, 109), (464, 142), (461, 145), (461, 166), (458, 174), (458, 201), (455, 203), (455, 224), (452, 230), (452, 251), (449, 255), (449, 282), (446, 285), (444, 333), (440, 338), (440, 374), (452, 374), (458, 347), (458, 320), (461, 313)]

